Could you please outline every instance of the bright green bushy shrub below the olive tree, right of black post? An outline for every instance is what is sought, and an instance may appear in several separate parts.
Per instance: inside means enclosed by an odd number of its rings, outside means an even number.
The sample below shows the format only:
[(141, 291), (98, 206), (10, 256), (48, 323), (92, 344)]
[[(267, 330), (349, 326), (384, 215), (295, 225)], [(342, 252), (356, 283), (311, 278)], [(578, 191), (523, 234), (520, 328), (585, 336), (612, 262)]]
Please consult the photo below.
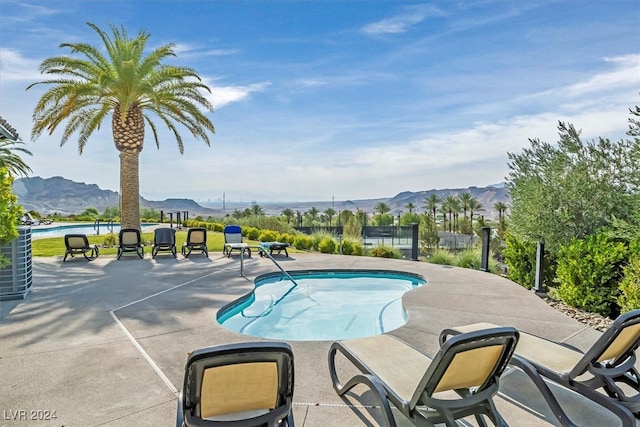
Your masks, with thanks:
[(558, 254), (558, 296), (567, 304), (603, 316), (616, 315), (627, 248), (603, 233), (574, 239)]

